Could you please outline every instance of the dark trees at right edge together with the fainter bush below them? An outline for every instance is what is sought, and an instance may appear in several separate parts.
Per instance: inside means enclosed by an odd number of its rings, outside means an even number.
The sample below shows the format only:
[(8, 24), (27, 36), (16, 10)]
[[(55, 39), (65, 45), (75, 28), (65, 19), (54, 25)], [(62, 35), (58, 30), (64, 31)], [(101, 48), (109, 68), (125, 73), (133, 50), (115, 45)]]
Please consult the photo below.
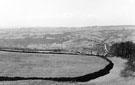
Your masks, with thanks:
[(123, 77), (135, 77), (135, 44), (131, 41), (114, 43), (110, 47), (111, 56), (127, 59), (126, 68), (121, 72)]

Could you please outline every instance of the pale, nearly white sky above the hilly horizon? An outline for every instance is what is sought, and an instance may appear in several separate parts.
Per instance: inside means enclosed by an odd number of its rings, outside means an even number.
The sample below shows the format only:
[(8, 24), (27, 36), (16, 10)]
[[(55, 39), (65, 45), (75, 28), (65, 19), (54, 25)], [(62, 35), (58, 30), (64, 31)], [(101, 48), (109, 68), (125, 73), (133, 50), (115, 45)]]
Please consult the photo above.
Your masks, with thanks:
[(135, 0), (0, 0), (0, 28), (135, 25)]

